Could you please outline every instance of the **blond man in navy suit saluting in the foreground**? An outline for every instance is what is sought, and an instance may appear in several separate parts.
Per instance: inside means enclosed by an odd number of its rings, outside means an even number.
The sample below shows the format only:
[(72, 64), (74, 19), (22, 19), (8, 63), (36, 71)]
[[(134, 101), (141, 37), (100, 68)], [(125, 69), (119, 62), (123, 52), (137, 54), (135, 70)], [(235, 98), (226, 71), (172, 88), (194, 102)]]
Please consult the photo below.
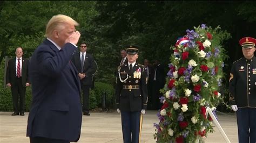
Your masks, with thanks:
[(65, 15), (53, 16), (47, 37), (30, 61), (32, 104), (26, 135), (31, 143), (78, 141), (82, 124), (80, 82), (70, 61), (77, 51), (78, 23)]

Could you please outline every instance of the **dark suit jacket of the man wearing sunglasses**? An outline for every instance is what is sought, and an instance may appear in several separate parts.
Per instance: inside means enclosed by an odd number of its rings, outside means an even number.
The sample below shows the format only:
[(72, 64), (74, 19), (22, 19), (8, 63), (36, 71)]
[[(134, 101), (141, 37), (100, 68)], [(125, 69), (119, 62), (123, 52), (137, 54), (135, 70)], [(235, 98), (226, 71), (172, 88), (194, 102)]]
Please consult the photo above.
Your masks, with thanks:
[[(85, 77), (82, 79), (81, 83), (83, 85), (92, 85), (92, 74), (96, 71), (96, 66), (94, 63), (94, 58), (91, 54), (86, 52), (85, 58), (84, 58), (84, 70), (83, 73), (85, 73)], [(75, 55), (72, 57), (72, 62), (74, 63), (76, 69), (78, 70), (78, 73), (81, 72), (81, 59), (80, 59), (80, 52), (77, 51)]]

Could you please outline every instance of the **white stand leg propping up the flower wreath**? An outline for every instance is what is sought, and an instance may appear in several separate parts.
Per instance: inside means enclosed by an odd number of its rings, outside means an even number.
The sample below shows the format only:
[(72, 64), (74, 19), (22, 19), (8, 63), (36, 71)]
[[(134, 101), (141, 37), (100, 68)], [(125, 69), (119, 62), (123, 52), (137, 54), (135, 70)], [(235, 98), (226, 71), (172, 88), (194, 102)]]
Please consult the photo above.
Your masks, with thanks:
[[(211, 116), (213, 123), (215, 123), (215, 125), (218, 127), (218, 130), (220, 131), (220, 133), (223, 136), (223, 138), (225, 139), (225, 141), (230, 143), (230, 140), (227, 138), (227, 135), (223, 131), (223, 128), (220, 126), (218, 120), (215, 118), (215, 116), (212, 113), (212, 110), (209, 107), (206, 108), (206, 118), (207, 118), (208, 114)], [(197, 138), (196, 142), (199, 143), (199, 140), (200, 140), (200, 138)]]

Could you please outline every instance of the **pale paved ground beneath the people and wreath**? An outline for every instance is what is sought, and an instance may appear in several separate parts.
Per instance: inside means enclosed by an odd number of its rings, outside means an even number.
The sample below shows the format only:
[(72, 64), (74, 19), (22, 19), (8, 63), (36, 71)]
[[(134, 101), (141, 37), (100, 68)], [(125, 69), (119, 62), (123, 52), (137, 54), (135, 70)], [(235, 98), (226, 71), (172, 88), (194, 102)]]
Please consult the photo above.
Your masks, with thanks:
[[(153, 139), (155, 132), (153, 123), (158, 122), (156, 112), (146, 111), (143, 116), (141, 142), (156, 142)], [(0, 112), (0, 142), (29, 142), (29, 138), (25, 137), (28, 113), (25, 113), (25, 116), (11, 116), (11, 113)], [(219, 123), (230, 141), (238, 142), (235, 114), (217, 113), (217, 115)], [(225, 142), (218, 128), (214, 127), (214, 129), (215, 132), (209, 134), (205, 142)], [(91, 112), (91, 116), (83, 116), (82, 134), (78, 142), (123, 142), (120, 114), (117, 112)]]

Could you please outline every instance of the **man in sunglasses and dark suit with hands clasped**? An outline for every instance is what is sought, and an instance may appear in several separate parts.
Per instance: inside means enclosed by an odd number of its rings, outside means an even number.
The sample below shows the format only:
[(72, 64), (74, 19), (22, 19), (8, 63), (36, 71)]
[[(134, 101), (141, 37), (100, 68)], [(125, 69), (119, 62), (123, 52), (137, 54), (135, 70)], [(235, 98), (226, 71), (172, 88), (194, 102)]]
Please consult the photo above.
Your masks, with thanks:
[(94, 65), (94, 58), (91, 54), (87, 53), (87, 45), (83, 41), (80, 44), (80, 52), (77, 52), (73, 58), (76, 69), (78, 70), (78, 76), (80, 77), (81, 87), (83, 91), (83, 113), (86, 116), (90, 116), (89, 113), (89, 94), (92, 86), (92, 74), (95, 73), (96, 67)]

